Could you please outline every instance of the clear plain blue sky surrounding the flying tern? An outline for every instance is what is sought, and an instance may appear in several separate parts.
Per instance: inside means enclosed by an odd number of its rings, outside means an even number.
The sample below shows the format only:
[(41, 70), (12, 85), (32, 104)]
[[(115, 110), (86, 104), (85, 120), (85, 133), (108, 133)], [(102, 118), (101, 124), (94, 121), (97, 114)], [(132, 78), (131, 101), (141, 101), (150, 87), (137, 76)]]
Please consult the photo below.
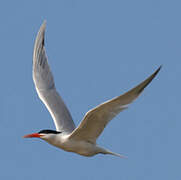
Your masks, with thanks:
[[(0, 1), (0, 179), (181, 178), (181, 1)], [(32, 81), (36, 34), (76, 125), (96, 105), (158, 76), (98, 144), (128, 156), (64, 152), (28, 133), (54, 129)]]

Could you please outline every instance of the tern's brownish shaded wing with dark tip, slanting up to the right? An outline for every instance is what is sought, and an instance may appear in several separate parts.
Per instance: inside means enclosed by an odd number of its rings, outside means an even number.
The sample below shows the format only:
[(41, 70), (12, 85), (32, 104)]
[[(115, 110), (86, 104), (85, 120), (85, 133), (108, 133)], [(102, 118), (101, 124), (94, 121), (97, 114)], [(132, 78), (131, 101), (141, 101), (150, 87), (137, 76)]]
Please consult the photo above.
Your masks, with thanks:
[(105, 126), (121, 111), (127, 108), (153, 80), (161, 66), (145, 81), (125, 94), (111, 99), (88, 111), (79, 126), (70, 134), (70, 139), (96, 143)]

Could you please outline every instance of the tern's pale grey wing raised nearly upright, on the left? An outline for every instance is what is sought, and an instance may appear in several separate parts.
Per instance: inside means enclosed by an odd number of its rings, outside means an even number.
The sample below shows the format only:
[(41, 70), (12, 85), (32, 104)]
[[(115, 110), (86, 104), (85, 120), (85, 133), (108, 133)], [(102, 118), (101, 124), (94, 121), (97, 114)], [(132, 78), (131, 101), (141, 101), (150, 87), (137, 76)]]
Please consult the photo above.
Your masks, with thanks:
[(53, 75), (48, 65), (44, 47), (46, 22), (36, 37), (33, 52), (33, 80), (39, 98), (49, 110), (57, 131), (71, 133), (75, 129), (72, 117), (55, 88)]

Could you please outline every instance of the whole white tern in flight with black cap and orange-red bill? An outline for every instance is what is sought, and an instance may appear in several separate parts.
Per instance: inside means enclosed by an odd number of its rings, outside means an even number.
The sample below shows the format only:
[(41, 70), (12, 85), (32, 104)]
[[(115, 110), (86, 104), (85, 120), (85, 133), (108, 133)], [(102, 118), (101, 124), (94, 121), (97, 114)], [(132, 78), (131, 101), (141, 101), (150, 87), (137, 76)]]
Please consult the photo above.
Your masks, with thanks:
[(53, 75), (48, 64), (44, 43), (45, 28), (46, 21), (41, 25), (35, 40), (33, 81), (39, 98), (53, 118), (56, 131), (49, 129), (41, 130), (38, 133), (25, 135), (24, 138), (40, 138), (65, 151), (87, 157), (101, 153), (124, 158), (125, 156), (123, 155), (100, 147), (96, 140), (106, 125), (141, 94), (144, 88), (160, 71), (161, 66), (133, 89), (89, 110), (78, 127), (75, 127), (69, 110), (56, 90)]

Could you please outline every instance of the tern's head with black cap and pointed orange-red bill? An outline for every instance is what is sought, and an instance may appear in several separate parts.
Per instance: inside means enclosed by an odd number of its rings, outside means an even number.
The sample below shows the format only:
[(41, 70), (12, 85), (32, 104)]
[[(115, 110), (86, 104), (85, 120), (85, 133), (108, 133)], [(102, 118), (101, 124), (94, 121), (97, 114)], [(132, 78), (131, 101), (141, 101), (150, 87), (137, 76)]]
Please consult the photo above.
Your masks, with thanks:
[(45, 129), (45, 130), (41, 130), (38, 133), (32, 133), (32, 134), (27, 134), (25, 136), (23, 136), (24, 138), (41, 138), (41, 139), (49, 139), (51, 137), (53, 137), (56, 134), (60, 134), (61, 132), (59, 131), (54, 131), (54, 130), (49, 130), (49, 129)]

